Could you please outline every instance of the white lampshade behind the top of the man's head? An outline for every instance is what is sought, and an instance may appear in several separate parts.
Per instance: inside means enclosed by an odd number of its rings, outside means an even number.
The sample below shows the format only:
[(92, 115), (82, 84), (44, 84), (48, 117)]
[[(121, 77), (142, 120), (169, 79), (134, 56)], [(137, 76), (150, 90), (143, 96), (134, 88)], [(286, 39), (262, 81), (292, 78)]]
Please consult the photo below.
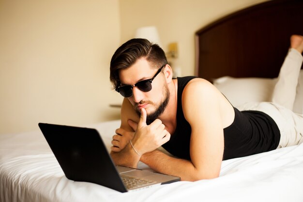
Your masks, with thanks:
[(135, 38), (147, 39), (161, 47), (158, 30), (155, 26), (140, 27), (136, 30)]

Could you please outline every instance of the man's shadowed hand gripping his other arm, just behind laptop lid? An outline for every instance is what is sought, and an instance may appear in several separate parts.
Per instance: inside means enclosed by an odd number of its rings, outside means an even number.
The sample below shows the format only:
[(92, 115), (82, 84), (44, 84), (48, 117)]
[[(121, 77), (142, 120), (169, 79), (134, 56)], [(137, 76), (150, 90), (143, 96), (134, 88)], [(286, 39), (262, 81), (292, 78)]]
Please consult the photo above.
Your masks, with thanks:
[(113, 152), (120, 152), (134, 138), (135, 132), (126, 131), (123, 128), (118, 128), (115, 132), (117, 134), (111, 140), (113, 146), (110, 149)]

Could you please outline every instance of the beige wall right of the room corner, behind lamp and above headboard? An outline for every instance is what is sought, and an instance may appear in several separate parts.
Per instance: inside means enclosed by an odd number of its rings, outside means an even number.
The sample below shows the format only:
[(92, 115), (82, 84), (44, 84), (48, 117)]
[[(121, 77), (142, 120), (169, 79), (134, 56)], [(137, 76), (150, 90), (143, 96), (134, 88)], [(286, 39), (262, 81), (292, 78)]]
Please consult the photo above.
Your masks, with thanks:
[(156, 26), (163, 49), (179, 47), (181, 76), (194, 75), (194, 34), (203, 26), (234, 11), (266, 0), (120, 0), (121, 40), (134, 37), (141, 26)]

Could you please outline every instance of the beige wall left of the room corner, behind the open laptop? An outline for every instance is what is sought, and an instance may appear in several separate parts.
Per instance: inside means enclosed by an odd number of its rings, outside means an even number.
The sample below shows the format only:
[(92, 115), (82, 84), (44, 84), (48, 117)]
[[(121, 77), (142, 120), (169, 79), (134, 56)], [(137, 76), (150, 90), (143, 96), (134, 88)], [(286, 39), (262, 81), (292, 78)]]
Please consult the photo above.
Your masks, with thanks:
[(118, 0), (0, 0), (0, 134), (119, 118)]

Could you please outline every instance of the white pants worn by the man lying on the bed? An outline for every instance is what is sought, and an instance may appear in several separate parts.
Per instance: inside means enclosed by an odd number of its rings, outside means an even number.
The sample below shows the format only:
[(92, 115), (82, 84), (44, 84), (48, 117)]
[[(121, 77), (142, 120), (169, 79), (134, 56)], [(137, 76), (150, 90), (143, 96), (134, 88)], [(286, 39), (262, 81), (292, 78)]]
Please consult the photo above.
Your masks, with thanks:
[(302, 54), (290, 48), (280, 69), (273, 90), (272, 102), (247, 103), (238, 108), (239, 110), (263, 111), (271, 116), (281, 134), (278, 148), (303, 142), (302, 114), (292, 111), (302, 62)]

